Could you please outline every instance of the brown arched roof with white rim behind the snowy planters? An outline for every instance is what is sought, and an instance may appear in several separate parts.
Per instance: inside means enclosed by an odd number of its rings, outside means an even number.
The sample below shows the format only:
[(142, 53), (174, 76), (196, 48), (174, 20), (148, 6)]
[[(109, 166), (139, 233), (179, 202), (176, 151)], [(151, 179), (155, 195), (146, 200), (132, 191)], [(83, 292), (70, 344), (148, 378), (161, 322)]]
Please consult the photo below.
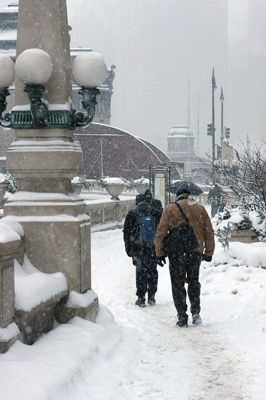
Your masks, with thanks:
[[(149, 177), (152, 167), (170, 158), (154, 144), (125, 130), (101, 123), (91, 123), (75, 130), (74, 140), (83, 151), (83, 169), (89, 178), (121, 176), (135, 180)], [(172, 168), (173, 179), (180, 179), (176, 168)]]

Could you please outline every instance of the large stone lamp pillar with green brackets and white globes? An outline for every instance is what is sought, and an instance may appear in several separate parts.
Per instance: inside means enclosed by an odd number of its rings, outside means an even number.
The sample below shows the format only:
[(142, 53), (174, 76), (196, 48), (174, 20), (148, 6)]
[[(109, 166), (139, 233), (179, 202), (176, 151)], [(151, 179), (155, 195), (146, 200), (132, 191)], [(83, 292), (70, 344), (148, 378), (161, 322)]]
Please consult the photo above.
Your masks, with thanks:
[[(6, 163), (18, 181), (4, 216), (15, 215), (23, 226), (32, 264), (43, 272), (63, 272), (69, 290), (78, 293), (91, 288), (90, 221), (71, 186), (82, 167), (73, 130), (92, 121), (97, 86), (106, 73), (103, 58), (92, 51), (76, 56), (71, 73), (66, 0), (19, 0), (15, 106), (4, 116), (14, 64), (0, 55), (0, 123), (15, 129)], [(85, 113), (73, 107), (71, 74), (81, 86)], [(92, 320), (97, 306), (94, 298)]]

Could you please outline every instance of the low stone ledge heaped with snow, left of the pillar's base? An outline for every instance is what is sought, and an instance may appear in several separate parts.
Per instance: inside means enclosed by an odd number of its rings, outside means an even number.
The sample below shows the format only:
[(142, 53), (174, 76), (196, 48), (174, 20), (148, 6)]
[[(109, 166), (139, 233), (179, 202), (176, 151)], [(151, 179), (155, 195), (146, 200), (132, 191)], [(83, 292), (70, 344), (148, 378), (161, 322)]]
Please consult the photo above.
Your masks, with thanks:
[(32, 344), (51, 330), (54, 307), (68, 291), (62, 272), (44, 273), (30, 263), (16, 219), (0, 220), (0, 352), (17, 339)]

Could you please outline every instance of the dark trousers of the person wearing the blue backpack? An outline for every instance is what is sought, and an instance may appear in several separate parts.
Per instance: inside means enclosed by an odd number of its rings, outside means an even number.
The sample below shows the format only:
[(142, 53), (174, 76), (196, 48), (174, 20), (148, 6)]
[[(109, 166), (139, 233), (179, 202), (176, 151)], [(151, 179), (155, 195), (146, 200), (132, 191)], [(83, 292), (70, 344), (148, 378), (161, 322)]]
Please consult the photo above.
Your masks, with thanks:
[(157, 291), (158, 271), (154, 248), (144, 248), (133, 256), (133, 264), (136, 265), (136, 295), (148, 298), (154, 297)]

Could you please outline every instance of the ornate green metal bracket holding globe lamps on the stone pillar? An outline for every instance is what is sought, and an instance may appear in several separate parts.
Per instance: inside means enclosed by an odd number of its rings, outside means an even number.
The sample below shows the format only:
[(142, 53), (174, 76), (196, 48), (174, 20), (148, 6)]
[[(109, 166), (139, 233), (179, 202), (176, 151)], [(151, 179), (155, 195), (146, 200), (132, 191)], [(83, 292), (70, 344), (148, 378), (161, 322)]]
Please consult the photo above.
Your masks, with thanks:
[(45, 90), (42, 84), (26, 84), (24, 91), (28, 93), (28, 109), (26, 107), (19, 109), (15, 106), (11, 113), (6, 113), (2, 117), (7, 104), (5, 98), (10, 93), (7, 88), (0, 88), (0, 125), (13, 129), (66, 128), (74, 130), (77, 126), (87, 126), (91, 123), (95, 115), (96, 96), (100, 93), (99, 89), (81, 87), (79, 90), (79, 94), (83, 96), (82, 105), (86, 113), (77, 111), (73, 104), (70, 109), (49, 109), (49, 103), (44, 103), (41, 98)]

